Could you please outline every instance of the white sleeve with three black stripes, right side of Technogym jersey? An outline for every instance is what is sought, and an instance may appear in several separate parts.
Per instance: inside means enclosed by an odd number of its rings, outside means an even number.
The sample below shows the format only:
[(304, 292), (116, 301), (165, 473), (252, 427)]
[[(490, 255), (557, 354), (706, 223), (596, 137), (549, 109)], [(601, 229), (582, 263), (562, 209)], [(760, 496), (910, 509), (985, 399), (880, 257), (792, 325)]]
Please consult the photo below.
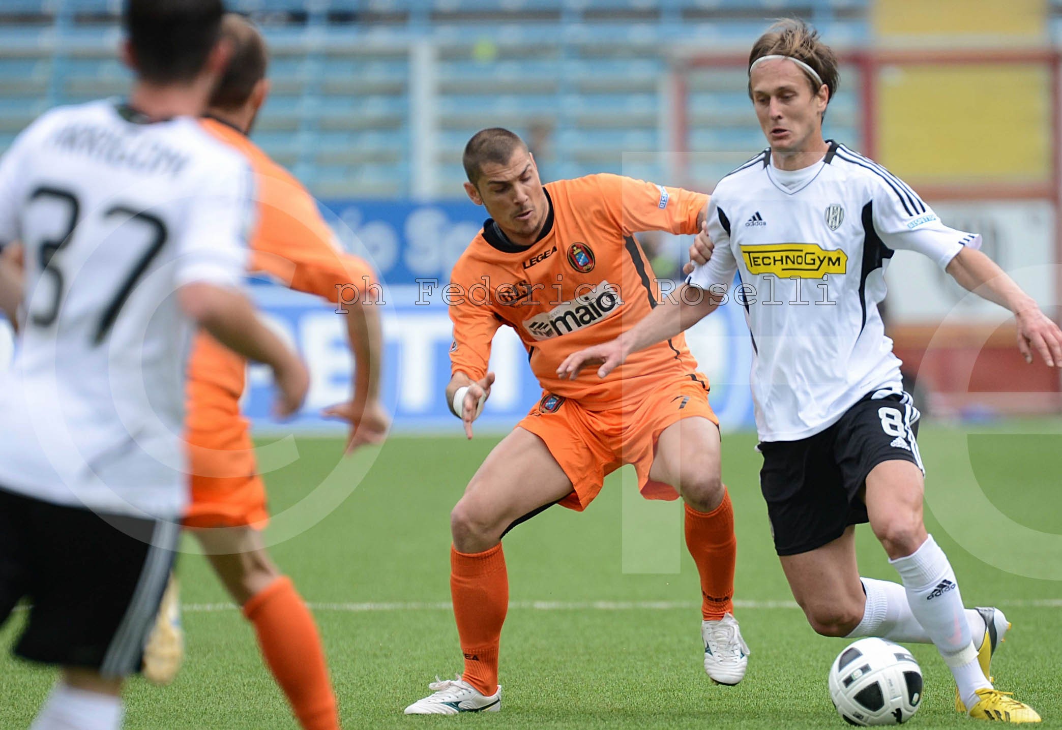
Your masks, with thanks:
[(876, 179), (873, 201), (874, 230), (889, 248), (918, 251), (944, 268), (963, 246), (981, 247), (979, 233), (945, 226), (898, 177)]

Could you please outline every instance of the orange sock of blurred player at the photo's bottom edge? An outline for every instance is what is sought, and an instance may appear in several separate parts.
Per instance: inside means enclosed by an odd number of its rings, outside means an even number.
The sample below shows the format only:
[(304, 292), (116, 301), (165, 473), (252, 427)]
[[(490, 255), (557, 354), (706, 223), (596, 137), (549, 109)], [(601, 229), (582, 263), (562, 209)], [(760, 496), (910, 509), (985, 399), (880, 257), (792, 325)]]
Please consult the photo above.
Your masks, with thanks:
[(266, 663), (304, 730), (339, 730), (336, 695), (316, 624), (291, 580), (279, 577), (243, 606)]

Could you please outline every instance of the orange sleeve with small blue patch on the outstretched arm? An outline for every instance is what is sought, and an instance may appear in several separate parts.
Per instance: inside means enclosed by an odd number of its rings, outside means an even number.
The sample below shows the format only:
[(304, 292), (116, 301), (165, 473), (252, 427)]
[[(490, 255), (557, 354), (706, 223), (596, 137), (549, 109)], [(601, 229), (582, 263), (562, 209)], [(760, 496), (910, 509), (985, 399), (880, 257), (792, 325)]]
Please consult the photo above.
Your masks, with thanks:
[(620, 175), (595, 177), (623, 236), (643, 230), (665, 230), (675, 234), (699, 231), (697, 216), (704, 210), (707, 195)]

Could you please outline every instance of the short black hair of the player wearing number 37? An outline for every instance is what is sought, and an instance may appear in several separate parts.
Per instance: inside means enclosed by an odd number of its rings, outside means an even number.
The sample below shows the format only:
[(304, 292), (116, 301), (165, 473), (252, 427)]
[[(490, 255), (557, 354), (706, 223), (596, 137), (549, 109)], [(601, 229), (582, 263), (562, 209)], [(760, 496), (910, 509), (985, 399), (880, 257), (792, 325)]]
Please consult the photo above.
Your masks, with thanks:
[(126, 0), (137, 75), (156, 84), (190, 82), (203, 70), (221, 32), (222, 0)]

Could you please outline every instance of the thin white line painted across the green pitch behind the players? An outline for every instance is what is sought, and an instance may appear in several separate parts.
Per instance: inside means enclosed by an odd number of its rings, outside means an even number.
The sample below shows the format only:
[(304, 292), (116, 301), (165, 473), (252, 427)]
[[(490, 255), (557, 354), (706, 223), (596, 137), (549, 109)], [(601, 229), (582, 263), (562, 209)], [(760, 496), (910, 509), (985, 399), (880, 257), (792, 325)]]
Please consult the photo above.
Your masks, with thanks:
[[(793, 601), (735, 601), (735, 608), (771, 609), (798, 608)], [(314, 611), (341, 611), (346, 613), (364, 613), (370, 611), (449, 611), (452, 605), (448, 601), (439, 602), (394, 602), (394, 603), (311, 603)], [(692, 610), (700, 608), (700, 603), (692, 601), (514, 601), (509, 604), (511, 609), (528, 609), (535, 611), (669, 611)], [(1028, 601), (1008, 601), (1005, 608), (1062, 608), (1062, 598), (1032, 598)], [(233, 604), (185, 604), (183, 610), (188, 613), (211, 613), (216, 611), (235, 610)]]

